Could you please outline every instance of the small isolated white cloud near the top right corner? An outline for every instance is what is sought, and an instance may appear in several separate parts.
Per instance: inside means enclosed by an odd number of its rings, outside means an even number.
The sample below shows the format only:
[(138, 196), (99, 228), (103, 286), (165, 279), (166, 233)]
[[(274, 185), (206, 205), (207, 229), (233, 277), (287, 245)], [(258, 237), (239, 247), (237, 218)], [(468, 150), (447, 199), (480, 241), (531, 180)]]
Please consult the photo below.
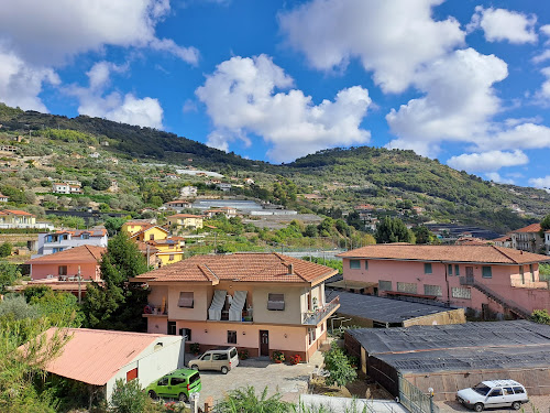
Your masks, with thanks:
[(537, 42), (536, 23), (537, 17), (535, 14), (526, 15), (517, 11), (484, 9), (482, 6), (477, 6), (472, 22), (468, 25), (468, 31), (483, 29), (485, 40), (488, 42), (535, 43)]

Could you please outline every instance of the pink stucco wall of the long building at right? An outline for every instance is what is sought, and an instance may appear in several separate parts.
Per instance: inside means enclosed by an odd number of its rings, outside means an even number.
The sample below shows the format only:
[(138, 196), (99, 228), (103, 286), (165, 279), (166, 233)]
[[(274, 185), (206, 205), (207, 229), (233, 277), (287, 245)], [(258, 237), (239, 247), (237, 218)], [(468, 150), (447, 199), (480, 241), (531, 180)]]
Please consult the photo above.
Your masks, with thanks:
[[(476, 282), (487, 285), (498, 295), (514, 301), (517, 305), (532, 312), (539, 308), (550, 308), (550, 290), (548, 284), (539, 281), (538, 264), (532, 264), (532, 275), (529, 265), (524, 265), (524, 278), (520, 275), (519, 265), (488, 265), (492, 268), (492, 278), (482, 276), (483, 264), (464, 264), (455, 262), (432, 262), (431, 274), (425, 273), (425, 262), (393, 261), (393, 260), (369, 260), (369, 269), (365, 269), (365, 260), (361, 261), (360, 269), (350, 268), (350, 259), (343, 260), (343, 276), (350, 281), (363, 281), (378, 283), (381, 280), (392, 281), (392, 291), (397, 291), (397, 282), (417, 284), (417, 294), (425, 294), (425, 285), (439, 285), (441, 296), (438, 301), (450, 301), (452, 305), (482, 309), (482, 304), (488, 304), (490, 308), (502, 313), (503, 308), (494, 301), (488, 300), (482, 292), (460, 284), (460, 276), (466, 275), (466, 267), (473, 269)], [(448, 265), (452, 264), (452, 275), (448, 273)], [(455, 274), (455, 265), (459, 265), (460, 276)], [(470, 287), (471, 298), (457, 298), (452, 296), (453, 287)], [(544, 289), (546, 287), (546, 289)], [(380, 291), (380, 295), (385, 292)]]

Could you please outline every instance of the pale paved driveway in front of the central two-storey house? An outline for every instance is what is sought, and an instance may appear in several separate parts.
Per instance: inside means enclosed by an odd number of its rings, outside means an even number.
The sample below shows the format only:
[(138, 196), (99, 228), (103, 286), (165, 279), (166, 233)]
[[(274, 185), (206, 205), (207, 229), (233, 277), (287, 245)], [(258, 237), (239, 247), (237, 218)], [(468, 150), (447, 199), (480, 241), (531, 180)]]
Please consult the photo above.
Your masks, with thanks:
[(297, 402), (299, 394), (307, 392), (309, 378), (321, 361), (322, 356), (318, 351), (309, 363), (290, 366), (276, 365), (270, 360), (248, 359), (241, 360), (239, 366), (227, 374), (218, 371), (200, 371), (202, 381), (200, 403), (210, 395), (215, 401), (219, 401), (230, 390), (248, 385), (254, 387), (256, 393), (261, 393), (267, 387), (268, 396), (278, 392), (284, 400)]

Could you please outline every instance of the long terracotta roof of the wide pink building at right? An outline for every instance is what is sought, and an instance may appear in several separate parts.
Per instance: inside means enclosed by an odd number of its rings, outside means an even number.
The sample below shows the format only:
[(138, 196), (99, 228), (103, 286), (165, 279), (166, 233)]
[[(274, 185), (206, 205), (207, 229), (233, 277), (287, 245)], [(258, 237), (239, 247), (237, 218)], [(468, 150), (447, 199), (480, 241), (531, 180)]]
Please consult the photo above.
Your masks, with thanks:
[(366, 246), (342, 252), (338, 257), (403, 261), (483, 262), (509, 265), (550, 261), (548, 256), (496, 246), (414, 246), (403, 243)]

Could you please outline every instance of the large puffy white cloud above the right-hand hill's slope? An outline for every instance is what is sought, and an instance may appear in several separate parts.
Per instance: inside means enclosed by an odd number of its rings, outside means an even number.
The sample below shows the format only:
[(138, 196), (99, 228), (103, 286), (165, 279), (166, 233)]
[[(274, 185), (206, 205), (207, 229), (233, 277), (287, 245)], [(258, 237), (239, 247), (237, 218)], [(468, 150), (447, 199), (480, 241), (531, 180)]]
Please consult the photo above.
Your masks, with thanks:
[(430, 63), (415, 78), (415, 86), (426, 96), (386, 116), (398, 137), (388, 146), (424, 148), (420, 154), (436, 155), (441, 141), (472, 142), (484, 137), (488, 120), (501, 107), (493, 84), (507, 74), (505, 62), (473, 48)]

